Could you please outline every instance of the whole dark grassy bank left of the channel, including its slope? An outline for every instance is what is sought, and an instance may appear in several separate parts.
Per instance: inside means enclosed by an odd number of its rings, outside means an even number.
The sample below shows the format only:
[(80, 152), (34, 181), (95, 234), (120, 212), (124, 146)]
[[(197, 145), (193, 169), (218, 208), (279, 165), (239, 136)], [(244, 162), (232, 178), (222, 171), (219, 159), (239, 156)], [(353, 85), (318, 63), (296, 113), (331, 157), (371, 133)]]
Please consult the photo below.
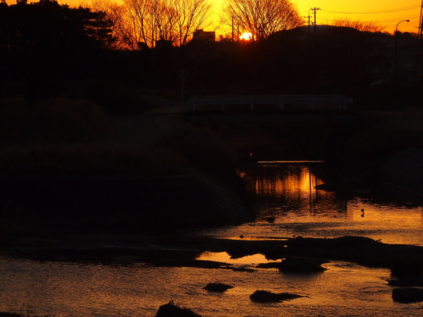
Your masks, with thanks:
[[(154, 102), (147, 108), (162, 105)], [(1, 111), (7, 241), (254, 219), (239, 198), (243, 184), (225, 146), (177, 114), (112, 116), (92, 102), (61, 98), (32, 106), (4, 99)]]

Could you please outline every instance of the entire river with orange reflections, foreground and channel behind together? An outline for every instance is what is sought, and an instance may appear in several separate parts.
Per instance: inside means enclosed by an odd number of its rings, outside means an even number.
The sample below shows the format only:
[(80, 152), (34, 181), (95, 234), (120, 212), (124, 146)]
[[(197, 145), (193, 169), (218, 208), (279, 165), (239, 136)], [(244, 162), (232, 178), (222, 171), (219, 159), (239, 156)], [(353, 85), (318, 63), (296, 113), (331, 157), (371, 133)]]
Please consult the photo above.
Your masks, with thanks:
[[(307, 165), (262, 166), (240, 170), (257, 194), (258, 220), (185, 234), (231, 239), (340, 237), (362, 235), (386, 243), (423, 245), (423, 209), (414, 201), (399, 203), (391, 195), (336, 193), (315, 189), (323, 181)], [(364, 213), (362, 212), (364, 209)], [(273, 216), (269, 223), (266, 217)], [(199, 259), (254, 268), (262, 255), (230, 259), (204, 253)], [(421, 304), (398, 304), (387, 285), (390, 272), (355, 263), (330, 262), (327, 271), (298, 275), (275, 269), (231, 271), (206, 268), (40, 262), (0, 257), (0, 311), (24, 315), (155, 316), (170, 300), (202, 316), (422, 316)], [(207, 292), (208, 282), (235, 286)], [(250, 300), (255, 290), (304, 295), (276, 304)]]

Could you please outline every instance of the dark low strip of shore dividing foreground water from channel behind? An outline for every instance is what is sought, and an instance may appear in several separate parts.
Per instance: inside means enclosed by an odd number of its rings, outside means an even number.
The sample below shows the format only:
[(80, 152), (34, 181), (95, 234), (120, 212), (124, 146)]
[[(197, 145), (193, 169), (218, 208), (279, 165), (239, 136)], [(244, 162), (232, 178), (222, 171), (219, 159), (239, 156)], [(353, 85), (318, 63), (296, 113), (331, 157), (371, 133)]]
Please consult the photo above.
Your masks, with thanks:
[[(4, 238), (1, 239), (6, 242)], [(75, 235), (73, 237), (20, 237), (8, 240), (1, 251), (12, 257), (37, 261), (78, 263), (151, 263), (156, 266), (227, 268), (228, 263), (196, 260), (204, 251), (226, 251), (237, 259), (263, 254), (266, 259), (349, 261), (388, 268), (398, 275), (420, 278), (423, 247), (386, 244), (367, 237), (332, 239), (295, 237), (281, 240), (228, 240), (195, 235)]]

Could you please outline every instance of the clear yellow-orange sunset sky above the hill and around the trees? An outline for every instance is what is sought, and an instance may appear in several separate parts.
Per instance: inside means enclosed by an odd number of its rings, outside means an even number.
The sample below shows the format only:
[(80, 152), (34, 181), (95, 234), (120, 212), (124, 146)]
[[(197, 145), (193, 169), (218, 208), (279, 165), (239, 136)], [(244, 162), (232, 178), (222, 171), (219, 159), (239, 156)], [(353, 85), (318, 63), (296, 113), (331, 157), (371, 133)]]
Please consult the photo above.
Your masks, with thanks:
[[(28, 2), (30, 2), (29, 0)], [(33, 1), (33, 0), (32, 0)], [(120, 2), (121, 0), (116, 0)], [(219, 11), (226, 0), (209, 0), (214, 4), (215, 10)], [(16, 0), (6, 0), (8, 4), (15, 4)], [(36, 2), (36, 1), (35, 1)], [(78, 6), (81, 3), (90, 3), (90, 0), (59, 0), (60, 4), (69, 4)], [(332, 24), (334, 19), (349, 18), (350, 20), (376, 21), (386, 27), (387, 32), (393, 32), (396, 25), (401, 20), (410, 20), (409, 23), (403, 22), (398, 26), (401, 32), (418, 32), (419, 16), (422, 7), (421, 0), (293, 0), (300, 15), (307, 21), (307, 15), (312, 15), (310, 8), (320, 8), (317, 11), (317, 24)], [(314, 16), (312, 15), (312, 21)]]

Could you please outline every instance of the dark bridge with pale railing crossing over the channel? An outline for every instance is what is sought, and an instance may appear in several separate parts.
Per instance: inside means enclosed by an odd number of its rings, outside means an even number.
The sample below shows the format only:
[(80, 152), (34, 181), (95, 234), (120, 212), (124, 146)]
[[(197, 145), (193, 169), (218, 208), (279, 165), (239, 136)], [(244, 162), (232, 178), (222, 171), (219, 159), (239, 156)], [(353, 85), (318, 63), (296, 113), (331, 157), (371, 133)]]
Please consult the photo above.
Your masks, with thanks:
[(192, 120), (227, 122), (353, 122), (353, 98), (343, 95), (194, 96)]

